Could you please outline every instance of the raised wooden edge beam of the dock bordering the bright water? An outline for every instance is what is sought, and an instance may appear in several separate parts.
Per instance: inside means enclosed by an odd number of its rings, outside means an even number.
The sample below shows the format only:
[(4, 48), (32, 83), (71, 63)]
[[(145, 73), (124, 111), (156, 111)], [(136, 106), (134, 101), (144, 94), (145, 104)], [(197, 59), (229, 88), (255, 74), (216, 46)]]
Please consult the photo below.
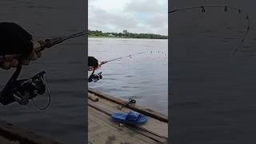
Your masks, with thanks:
[(154, 111), (154, 110), (150, 110), (150, 109), (146, 109), (146, 108), (143, 108), (142, 106), (137, 106), (137, 105), (126, 105), (127, 102), (123, 101), (122, 99), (119, 99), (119, 98), (115, 98), (111, 95), (108, 95), (108, 94), (103, 94), (102, 92), (98, 91), (98, 90), (94, 90), (94, 89), (91, 89), (91, 88), (88, 88), (88, 92), (91, 93), (91, 94), (95, 94), (97, 95), (98, 97), (101, 97), (101, 98), (105, 98), (111, 102), (115, 102), (121, 106), (126, 106), (127, 108), (131, 109), (131, 110), (135, 110), (135, 111), (138, 111), (139, 113), (141, 114), (145, 114), (147, 116), (150, 116), (152, 118), (156, 118), (162, 122), (168, 122), (168, 117), (164, 114), (161, 114), (157, 111)]

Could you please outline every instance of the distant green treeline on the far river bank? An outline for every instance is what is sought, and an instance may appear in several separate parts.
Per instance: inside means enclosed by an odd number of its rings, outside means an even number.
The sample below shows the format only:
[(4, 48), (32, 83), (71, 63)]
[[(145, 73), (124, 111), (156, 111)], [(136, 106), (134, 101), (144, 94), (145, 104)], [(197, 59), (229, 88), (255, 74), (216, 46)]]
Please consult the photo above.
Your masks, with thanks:
[(129, 33), (127, 30), (123, 30), (122, 33), (102, 33), (101, 30), (89, 30), (89, 37), (97, 38), (150, 38), (150, 39), (167, 39), (166, 35), (160, 34), (137, 34)]

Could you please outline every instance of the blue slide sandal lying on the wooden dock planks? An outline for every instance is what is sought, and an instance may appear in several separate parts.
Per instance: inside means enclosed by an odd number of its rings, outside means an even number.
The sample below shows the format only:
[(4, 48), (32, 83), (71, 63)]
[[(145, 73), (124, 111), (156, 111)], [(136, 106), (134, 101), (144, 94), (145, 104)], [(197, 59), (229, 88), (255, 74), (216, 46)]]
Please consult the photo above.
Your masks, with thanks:
[(147, 121), (145, 115), (139, 114), (138, 112), (131, 110), (128, 114), (115, 113), (111, 115), (111, 118), (115, 122), (122, 122), (131, 125), (141, 125)]

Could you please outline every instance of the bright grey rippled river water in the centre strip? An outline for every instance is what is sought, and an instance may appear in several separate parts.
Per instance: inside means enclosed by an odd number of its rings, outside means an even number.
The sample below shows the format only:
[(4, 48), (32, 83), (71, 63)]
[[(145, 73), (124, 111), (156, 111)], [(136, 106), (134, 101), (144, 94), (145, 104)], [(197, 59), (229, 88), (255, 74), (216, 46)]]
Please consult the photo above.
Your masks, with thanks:
[(89, 87), (127, 102), (135, 98), (139, 106), (168, 113), (167, 40), (89, 38), (88, 45), (88, 55), (100, 61), (147, 52), (106, 63), (95, 72), (102, 71), (103, 79), (90, 82)]

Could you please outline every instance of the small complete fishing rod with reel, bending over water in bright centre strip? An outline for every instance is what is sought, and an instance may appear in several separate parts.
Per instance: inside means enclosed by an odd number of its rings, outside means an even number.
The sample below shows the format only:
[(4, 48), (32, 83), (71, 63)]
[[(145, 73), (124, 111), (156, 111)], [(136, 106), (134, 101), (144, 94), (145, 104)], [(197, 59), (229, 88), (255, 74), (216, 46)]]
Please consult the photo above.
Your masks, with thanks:
[[(110, 60), (106, 60), (106, 61), (103, 61), (103, 62), (99, 62), (98, 64), (98, 67), (101, 67), (102, 65), (108, 63), (108, 62), (114, 62), (114, 61), (118, 61), (122, 58), (132, 58), (134, 55), (138, 55), (138, 54), (146, 54), (146, 53), (153, 53), (153, 52), (158, 52), (158, 53), (162, 53), (164, 54), (163, 52), (161, 51), (143, 51), (143, 52), (139, 52), (139, 53), (136, 53), (136, 54), (129, 54), (129, 55), (126, 55), (126, 56), (123, 56), (123, 57), (119, 57), (119, 58), (113, 58), (113, 59), (110, 59)], [(166, 54), (164, 54), (166, 56)], [(88, 78), (88, 82), (98, 82), (100, 79), (102, 79), (102, 72), (98, 73), (98, 74), (94, 74), (95, 72), (95, 69), (93, 70), (93, 72), (90, 74), (89, 78)]]

